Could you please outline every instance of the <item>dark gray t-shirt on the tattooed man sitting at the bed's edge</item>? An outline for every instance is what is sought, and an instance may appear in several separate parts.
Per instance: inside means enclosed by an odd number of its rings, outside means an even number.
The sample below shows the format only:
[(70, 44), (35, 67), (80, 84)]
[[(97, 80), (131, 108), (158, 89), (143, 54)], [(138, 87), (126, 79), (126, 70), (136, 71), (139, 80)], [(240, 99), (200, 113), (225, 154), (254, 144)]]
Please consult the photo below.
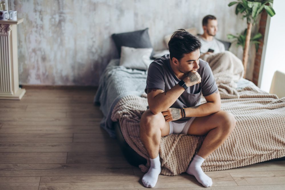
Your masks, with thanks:
[[(200, 68), (197, 72), (201, 76), (201, 83), (188, 87), (176, 102), (171, 106), (173, 108), (187, 108), (200, 105), (201, 94), (208, 96), (214, 93), (218, 87), (209, 64), (200, 59)], [(169, 54), (155, 59), (148, 68), (146, 88), (158, 88), (167, 91), (178, 84), (180, 80), (174, 74), (170, 66)], [(186, 117), (180, 120), (189, 119)]]

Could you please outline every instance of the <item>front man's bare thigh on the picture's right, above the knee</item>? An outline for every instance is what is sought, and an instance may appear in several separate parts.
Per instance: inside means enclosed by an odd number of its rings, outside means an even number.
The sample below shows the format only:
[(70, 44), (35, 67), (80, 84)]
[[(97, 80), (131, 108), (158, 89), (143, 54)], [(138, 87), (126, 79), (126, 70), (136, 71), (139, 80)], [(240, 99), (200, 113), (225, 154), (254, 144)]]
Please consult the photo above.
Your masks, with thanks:
[(199, 136), (205, 135), (213, 128), (219, 126), (227, 114), (228, 113), (226, 111), (218, 111), (204, 117), (196, 117), (190, 125), (187, 134)]

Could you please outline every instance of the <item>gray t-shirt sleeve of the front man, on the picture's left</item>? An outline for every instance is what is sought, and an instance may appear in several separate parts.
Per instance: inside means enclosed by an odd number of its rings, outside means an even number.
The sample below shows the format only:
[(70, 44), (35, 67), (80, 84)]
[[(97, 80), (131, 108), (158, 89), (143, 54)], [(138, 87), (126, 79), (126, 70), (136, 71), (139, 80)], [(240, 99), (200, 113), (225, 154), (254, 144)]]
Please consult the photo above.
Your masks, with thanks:
[(160, 68), (160, 66), (155, 63), (150, 64), (148, 67), (146, 88), (144, 89), (145, 93), (147, 93), (147, 89), (149, 88), (158, 88), (162, 89), (163, 91), (165, 89), (165, 81), (162, 68)]

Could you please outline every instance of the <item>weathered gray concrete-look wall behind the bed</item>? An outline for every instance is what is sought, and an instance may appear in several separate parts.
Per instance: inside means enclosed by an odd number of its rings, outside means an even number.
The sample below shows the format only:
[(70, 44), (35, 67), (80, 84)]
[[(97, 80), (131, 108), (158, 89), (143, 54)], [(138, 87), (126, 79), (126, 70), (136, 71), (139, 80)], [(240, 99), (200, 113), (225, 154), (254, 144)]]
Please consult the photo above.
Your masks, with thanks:
[[(11, 0), (24, 22), (18, 26), (19, 83), (93, 85), (112, 58), (117, 58), (112, 33), (149, 28), (155, 50), (163, 37), (179, 28), (197, 27), (213, 14), (217, 38), (227, 40), (246, 28), (245, 20), (228, 7), (231, 0)], [(257, 30), (256, 27), (253, 30)], [(242, 57), (241, 48), (231, 48)], [(252, 78), (254, 48), (247, 78)], [(252, 65), (252, 66), (251, 66)]]

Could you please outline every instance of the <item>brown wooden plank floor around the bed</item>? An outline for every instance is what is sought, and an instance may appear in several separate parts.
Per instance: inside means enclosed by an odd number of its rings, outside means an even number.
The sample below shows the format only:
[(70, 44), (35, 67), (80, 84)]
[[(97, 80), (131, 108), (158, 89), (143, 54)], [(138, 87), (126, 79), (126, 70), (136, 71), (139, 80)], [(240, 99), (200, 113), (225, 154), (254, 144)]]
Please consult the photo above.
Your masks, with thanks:
[[(146, 189), (115, 139), (99, 127), (92, 89), (26, 88), (0, 100), (0, 189)], [(285, 161), (206, 172), (207, 189), (285, 189)], [(155, 189), (204, 189), (193, 176), (160, 175)]]

